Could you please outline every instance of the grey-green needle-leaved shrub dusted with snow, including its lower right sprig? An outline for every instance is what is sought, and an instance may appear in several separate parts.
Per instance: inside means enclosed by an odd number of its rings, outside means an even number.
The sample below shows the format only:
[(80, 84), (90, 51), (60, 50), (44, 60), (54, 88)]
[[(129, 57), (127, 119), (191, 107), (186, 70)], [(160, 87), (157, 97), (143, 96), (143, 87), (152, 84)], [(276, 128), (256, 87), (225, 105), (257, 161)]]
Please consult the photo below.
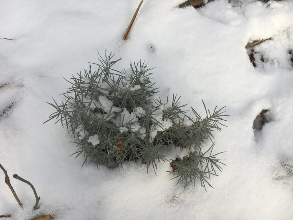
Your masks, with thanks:
[(114, 168), (125, 160), (139, 160), (147, 170), (150, 166), (156, 170), (160, 161), (168, 160), (164, 146), (189, 148), (189, 155), (171, 161), (171, 171), (185, 186), (197, 178), (203, 187), (211, 186), (209, 176), (216, 175), (223, 163), (212, 155), (214, 144), (205, 152), (202, 147), (212, 140), (213, 130), (221, 130), (223, 108), (211, 113), (205, 107), (205, 117), (192, 108), (191, 118), (175, 94), (171, 101), (155, 98), (159, 91), (147, 64), (130, 62), (130, 68), (118, 71), (112, 67), (119, 60), (113, 61), (112, 53), (105, 59), (100, 56), (100, 63), (90, 63), (97, 65), (97, 71), (92, 72), (90, 65), (89, 71), (68, 81), (71, 87), (62, 104), (54, 99), (49, 103), (56, 112), (48, 121), (60, 121), (80, 146), (72, 155), (84, 154), (83, 165), (90, 161)]

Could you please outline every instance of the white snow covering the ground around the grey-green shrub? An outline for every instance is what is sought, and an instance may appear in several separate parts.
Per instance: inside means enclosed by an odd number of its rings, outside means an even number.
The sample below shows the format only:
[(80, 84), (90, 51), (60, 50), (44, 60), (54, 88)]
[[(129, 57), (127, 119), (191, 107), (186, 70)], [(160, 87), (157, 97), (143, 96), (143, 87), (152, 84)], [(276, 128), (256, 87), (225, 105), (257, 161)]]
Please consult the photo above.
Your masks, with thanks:
[[(215, 0), (179, 9), (181, 2), (144, 0), (127, 41), (140, 0), (0, 2), (0, 38), (15, 39), (0, 40), (0, 85), (8, 83), (0, 88), (0, 163), (25, 206), (18, 207), (1, 171), (0, 215), (293, 219), (293, 1)], [(268, 38), (255, 46), (253, 67), (247, 42)], [(67, 130), (42, 124), (54, 111), (46, 102), (60, 102), (69, 87), (63, 77), (87, 69), (105, 48), (123, 58), (117, 69), (149, 62), (162, 94), (170, 88), (201, 114), (201, 99), (210, 109), (227, 106), (229, 127), (214, 133), (214, 152), (227, 151), (227, 166), (210, 181), (215, 189), (176, 185), (165, 172), (169, 163), (157, 176), (134, 162), (81, 169), (82, 157), (69, 158), (77, 148)], [(253, 120), (262, 109), (271, 121), (256, 138)], [(33, 192), (15, 173), (33, 183), (40, 209), (32, 210)]]

